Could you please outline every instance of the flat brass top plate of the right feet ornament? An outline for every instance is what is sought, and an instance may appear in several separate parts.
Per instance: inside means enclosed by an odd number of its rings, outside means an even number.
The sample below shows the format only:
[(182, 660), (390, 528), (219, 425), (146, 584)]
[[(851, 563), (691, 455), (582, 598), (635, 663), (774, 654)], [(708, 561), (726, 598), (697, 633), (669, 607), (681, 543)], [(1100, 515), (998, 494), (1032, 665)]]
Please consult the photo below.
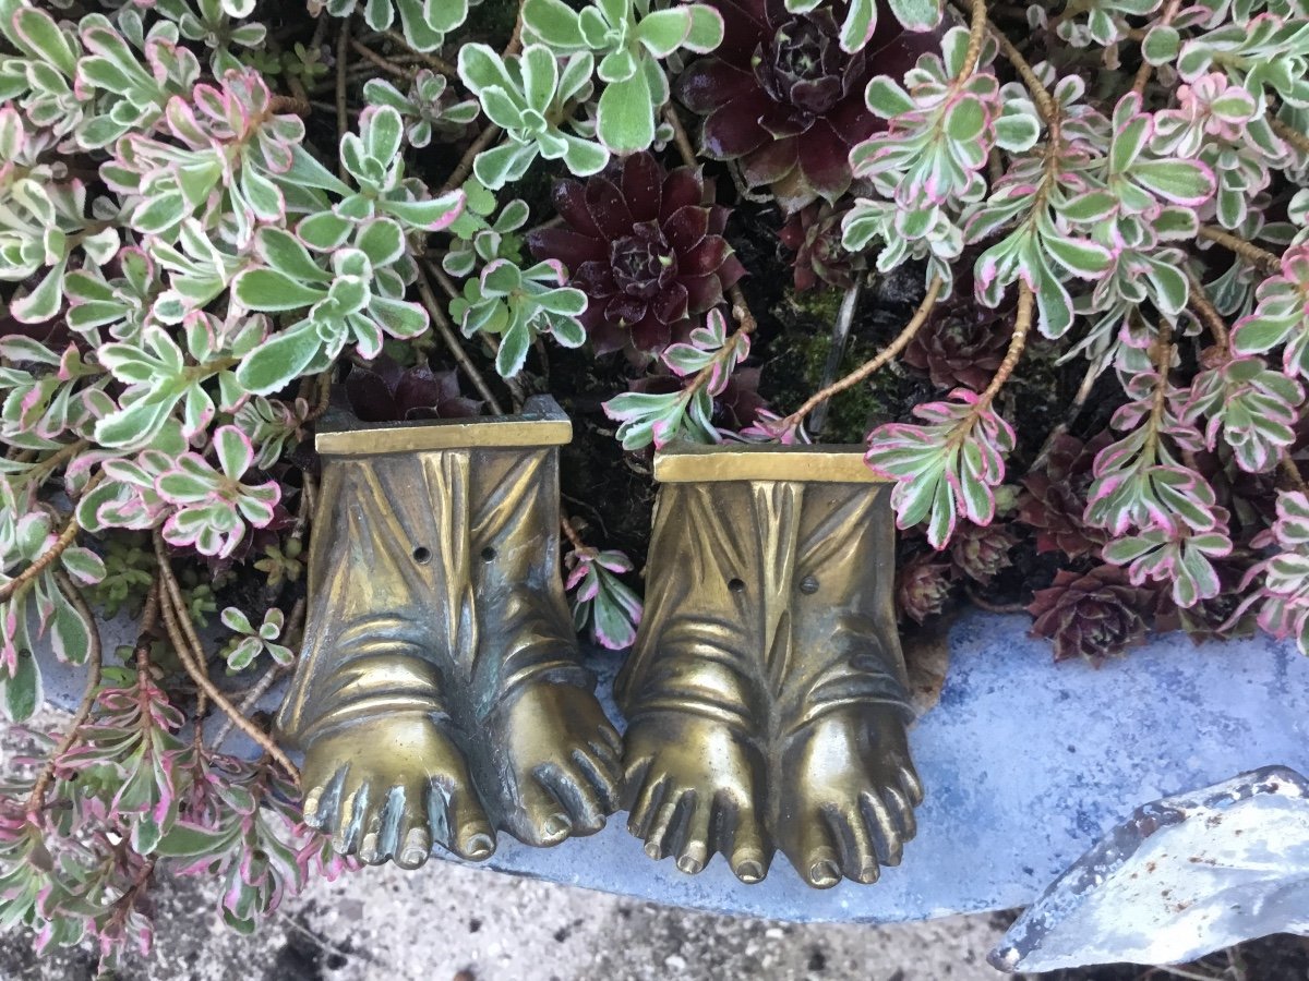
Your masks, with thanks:
[(864, 463), (857, 443), (776, 446), (674, 443), (654, 454), (654, 479), (664, 484), (700, 480), (808, 480), (822, 484), (885, 484)]

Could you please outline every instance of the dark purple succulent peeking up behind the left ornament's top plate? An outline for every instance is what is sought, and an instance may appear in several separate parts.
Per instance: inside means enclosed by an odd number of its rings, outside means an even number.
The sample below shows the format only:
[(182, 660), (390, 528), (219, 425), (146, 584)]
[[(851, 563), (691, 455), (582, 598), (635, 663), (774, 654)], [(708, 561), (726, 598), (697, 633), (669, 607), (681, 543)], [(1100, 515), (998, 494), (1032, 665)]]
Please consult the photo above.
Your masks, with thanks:
[(425, 362), (404, 368), (386, 354), (355, 365), (346, 378), (350, 408), (365, 422), (465, 419), (482, 403), (465, 398), (454, 370), (433, 371)]

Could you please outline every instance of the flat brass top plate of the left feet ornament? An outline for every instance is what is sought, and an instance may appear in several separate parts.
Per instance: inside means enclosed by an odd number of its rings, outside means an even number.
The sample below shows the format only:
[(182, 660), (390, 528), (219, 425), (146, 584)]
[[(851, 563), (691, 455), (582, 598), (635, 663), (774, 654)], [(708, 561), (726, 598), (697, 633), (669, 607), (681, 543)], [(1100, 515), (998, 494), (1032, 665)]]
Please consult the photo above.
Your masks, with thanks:
[(369, 455), (465, 447), (563, 446), (571, 441), (572, 422), (559, 403), (548, 395), (533, 395), (518, 416), (360, 422), (346, 413), (329, 412), (314, 447), (325, 455)]

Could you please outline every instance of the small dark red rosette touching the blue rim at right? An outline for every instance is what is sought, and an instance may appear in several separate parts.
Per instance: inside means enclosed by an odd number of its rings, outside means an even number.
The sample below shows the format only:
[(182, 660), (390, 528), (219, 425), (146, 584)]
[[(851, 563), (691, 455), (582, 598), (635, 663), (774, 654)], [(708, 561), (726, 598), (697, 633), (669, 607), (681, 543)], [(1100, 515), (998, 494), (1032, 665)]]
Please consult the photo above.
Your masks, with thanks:
[(1132, 586), (1114, 565), (1086, 573), (1060, 569), (1028, 607), (1034, 637), (1054, 641), (1055, 661), (1081, 658), (1100, 667), (1145, 638), (1155, 591)]

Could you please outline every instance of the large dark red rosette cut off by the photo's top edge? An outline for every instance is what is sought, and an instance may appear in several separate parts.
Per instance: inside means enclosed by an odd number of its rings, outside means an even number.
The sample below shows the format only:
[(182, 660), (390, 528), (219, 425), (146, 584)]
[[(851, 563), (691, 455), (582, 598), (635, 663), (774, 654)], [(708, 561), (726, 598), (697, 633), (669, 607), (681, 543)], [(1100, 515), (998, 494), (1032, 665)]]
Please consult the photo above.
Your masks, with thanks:
[(878, 3), (877, 30), (853, 55), (840, 50), (848, 4), (791, 13), (784, 0), (707, 0), (723, 14), (723, 43), (677, 78), (678, 99), (704, 119), (700, 145), (740, 160), (751, 187), (770, 184), (787, 212), (850, 187), (850, 150), (885, 123), (864, 102), (874, 75), (901, 77), (936, 34), (910, 34)]

